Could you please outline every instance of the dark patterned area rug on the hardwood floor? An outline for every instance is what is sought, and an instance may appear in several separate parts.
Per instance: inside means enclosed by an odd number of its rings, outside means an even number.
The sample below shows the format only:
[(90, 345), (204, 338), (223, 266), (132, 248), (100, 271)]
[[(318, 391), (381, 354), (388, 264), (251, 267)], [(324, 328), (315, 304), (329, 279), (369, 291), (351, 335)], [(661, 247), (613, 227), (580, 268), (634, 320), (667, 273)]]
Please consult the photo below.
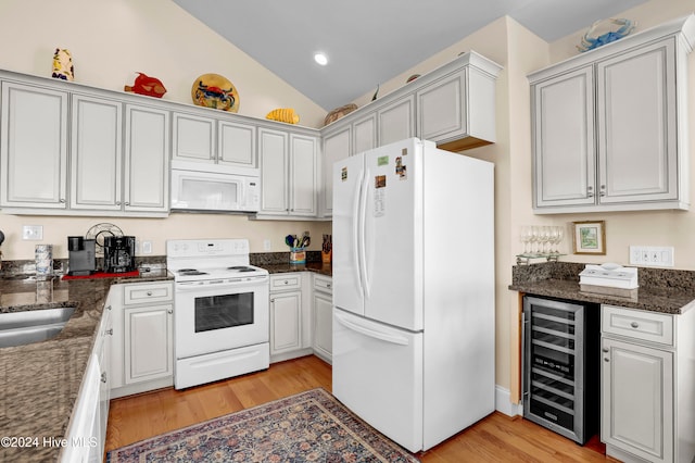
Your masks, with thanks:
[(323, 388), (106, 454), (116, 462), (418, 462)]

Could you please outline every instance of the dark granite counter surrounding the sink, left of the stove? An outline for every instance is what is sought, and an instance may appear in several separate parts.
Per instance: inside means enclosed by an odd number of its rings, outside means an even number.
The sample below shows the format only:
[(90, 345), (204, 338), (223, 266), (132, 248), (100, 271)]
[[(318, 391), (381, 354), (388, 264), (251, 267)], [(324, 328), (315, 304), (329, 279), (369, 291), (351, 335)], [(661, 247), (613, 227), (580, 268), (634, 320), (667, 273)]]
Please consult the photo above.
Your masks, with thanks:
[(139, 277), (36, 280), (0, 278), (0, 313), (76, 306), (55, 338), (0, 348), (0, 437), (38, 438), (37, 447), (0, 447), (0, 461), (55, 461), (79, 392), (111, 285), (173, 279), (166, 270)]

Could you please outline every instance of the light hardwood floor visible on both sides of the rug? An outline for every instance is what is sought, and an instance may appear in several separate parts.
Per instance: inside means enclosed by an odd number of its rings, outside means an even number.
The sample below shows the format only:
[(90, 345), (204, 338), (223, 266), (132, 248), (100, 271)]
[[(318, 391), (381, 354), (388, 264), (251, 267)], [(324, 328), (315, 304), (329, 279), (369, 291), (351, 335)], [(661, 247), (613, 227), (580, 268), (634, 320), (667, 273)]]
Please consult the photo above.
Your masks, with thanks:
[[(169, 388), (115, 399), (106, 451), (316, 387), (331, 390), (331, 367), (309, 355), (184, 391)], [(615, 461), (595, 448), (601, 450), (599, 445), (581, 447), (527, 420), (495, 412), (418, 456), (425, 463)]]

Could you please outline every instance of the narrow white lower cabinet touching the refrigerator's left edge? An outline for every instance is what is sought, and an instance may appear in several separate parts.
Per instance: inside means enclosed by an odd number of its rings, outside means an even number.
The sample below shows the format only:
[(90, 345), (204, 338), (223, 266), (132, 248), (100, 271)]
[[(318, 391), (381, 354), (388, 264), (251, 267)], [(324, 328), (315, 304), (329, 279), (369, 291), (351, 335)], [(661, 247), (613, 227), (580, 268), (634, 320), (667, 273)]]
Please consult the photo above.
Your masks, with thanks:
[(333, 290), (332, 278), (314, 275), (314, 353), (328, 363), (333, 355)]

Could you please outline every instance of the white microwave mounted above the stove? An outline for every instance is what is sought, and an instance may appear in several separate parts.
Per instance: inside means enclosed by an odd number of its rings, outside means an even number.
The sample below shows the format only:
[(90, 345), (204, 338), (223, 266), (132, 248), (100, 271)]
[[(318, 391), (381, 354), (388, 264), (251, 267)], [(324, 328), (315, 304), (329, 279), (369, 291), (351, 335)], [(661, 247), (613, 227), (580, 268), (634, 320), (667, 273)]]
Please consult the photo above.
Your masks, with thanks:
[(172, 210), (258, 212), (257, 168), (172, 162)]

